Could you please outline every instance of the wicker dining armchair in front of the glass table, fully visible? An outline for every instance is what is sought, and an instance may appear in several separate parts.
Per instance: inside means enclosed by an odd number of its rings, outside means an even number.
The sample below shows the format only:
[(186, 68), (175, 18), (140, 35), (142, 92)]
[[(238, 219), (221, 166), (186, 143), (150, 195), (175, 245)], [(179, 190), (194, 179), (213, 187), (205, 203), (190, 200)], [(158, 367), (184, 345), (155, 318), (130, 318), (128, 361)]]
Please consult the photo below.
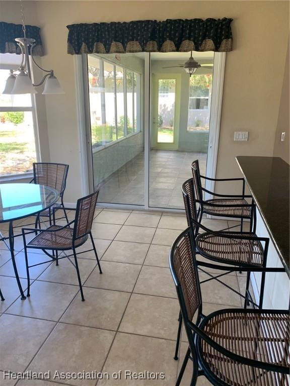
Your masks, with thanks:
[[(85, 300), (84, 294), (83, 294), (83, 287), (82, 287), (82, 281), (80, 276), (80, 270), (78, 265), (78, 259), (77, 255), (79, 253), (85, 253), (89, 251), (94, 251), (95, 256), (97, 259), (97, 264), (99, 267), (100, 273), (102, 273), (101, 265), (99, 262), (98, 254), (96, 251), (94, 239), (92, 236), (92, 223), (94, 219), (94, 213), (96, 208), (96, 203), (99, 195), (99, 188), (91, 195), (83, 197), (82, 199), (79, 199), (77, 202), (77, 208), (76, 211), (76, 217), (75, 220), (71, 221), (67, 225), (61, 227), (59, 225), (52, 225), (48, 227), (45, 230), (41, 229), (31, 229), (31, 228), (22, 228), (22, 235), (23, 235), (23, 241), (24, 241), (24, 253), (25, 253), (25, 262), (26, 262), (26, 272), (27, 272), (27, 280), (28, 280), (28, 286), (27, 286), (27, 296), (30, 296), (30, 277), (29, 277), (29, 268), (33, 267), (34, 265), (40, 265), (45, 264), (48, 262), (51, 262), (52, 260), (56, 261), (56, 265), (58, 265), (58, 260), (63, 258), (69, 258), (70, 256), (73, 256), (75, 259), (75, 267), (77, 270), (78, 275), (78, 281), (81, 291), (81, 297), (82, 301)], [(53, 210), (53, 223), (55, 224), (55, 216), (54, 216), (55, 210)], [(74, 224), (73, 228), (70, 228), (71, 225)], [(26, 235), (30, 233), (37, 233), (36, 236), (30, 240), (28, 243), (26, 242)], [(82, 251), (77, 253), (76, 249), (83, 245), (90, 236), (93, 249)], [(32, 249), (42, 249), (48, 254), (48, 250), (55, 252), (51, 255), (51, 259), (48, 261), (41, 262), (39, 264), (29, 265), (28, 264), (28, 255), (27, 255), (27, 248)], [(67, 250), (73, 250), (73, 254), (71, 255), (65, 255), (62, 257), (58, 257), (59, 251), (67, 251)], [(48, 254), (49, 255), (49, 254)]]

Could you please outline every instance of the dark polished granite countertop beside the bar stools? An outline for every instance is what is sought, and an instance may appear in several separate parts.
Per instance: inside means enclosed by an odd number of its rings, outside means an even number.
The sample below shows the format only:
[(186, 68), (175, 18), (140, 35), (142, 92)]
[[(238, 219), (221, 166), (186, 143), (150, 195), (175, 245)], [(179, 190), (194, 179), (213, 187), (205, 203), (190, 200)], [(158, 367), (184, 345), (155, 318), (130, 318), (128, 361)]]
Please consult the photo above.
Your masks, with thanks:
[(279, 157), (236, 157), (289, 275), (289, 165)]

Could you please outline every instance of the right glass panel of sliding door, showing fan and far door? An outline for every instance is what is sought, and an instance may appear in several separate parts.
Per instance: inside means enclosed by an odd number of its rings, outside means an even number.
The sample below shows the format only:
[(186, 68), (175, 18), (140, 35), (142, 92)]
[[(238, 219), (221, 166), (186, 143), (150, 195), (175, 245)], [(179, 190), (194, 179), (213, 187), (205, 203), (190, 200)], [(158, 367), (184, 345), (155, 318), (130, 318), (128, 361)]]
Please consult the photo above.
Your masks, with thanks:
[(198, 159), (206, 174), (213, 53), (194, 53), (201, 68), (191, 77), (183, 68), (189, 56), (151, 54), (149, 207), (184, 209), (191, 162)]

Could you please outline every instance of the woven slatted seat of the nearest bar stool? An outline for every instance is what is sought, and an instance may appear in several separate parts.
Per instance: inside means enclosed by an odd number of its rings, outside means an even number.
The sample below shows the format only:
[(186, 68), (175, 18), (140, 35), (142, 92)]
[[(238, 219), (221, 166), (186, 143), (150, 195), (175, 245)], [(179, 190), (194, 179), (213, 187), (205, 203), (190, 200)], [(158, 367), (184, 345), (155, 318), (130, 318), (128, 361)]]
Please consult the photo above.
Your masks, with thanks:
[[(212, 340), (237, 355), (286, 367), (289, 327), (287, 311), (235, 309), (214, 312), (200, 326)], [(231, 386), (289, 385), (287, 375), (238, 363), (200, 338), (198, 346), (206, 375), (215, 380)]]

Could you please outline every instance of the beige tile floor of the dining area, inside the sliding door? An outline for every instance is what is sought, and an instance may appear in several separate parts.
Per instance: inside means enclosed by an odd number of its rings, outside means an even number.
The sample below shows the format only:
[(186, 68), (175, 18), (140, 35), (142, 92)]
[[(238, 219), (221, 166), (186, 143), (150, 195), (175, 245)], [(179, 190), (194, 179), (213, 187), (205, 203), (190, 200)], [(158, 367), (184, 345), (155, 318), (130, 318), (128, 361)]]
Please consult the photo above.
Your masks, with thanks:
[[(73, 218), (74, 211), (68, 215)], [(213, 229), (237, 225), (204, 221)], [(0, 286), (6, 300), (0, 302), (0, 384), (174, 386), (180, 367), (180, 362), (173, 359), (179, 306), (168, 253), (186, 226), (182, 214), (96, 210), (93, 236), (103, 274), (99, 274), (92, 252), (80, 255), (85, 302), (81, 301), (75, 269), (67, 259), (60, 260), (59, 266), (51, 263), (32, 269), (31, 297), (20, 300), (9, 251), (1, 242)], [(5, 233), (5, 225), (0, 224), (1, 227)], [(21, 238), (17, 245), (16, 261), (25, 288)], [(29, 254), (34, 263), (43, 258), (43, 253)], [(201, 274), (203, 277), (205, 274)], [(245, 277), (233, 273), (225, 280), (238, 290)], [(202, 284), (202, 296), (205, 314), (242, 305), (236, 294), (218, 283)], [(182, 341), (180, 360), (187, 348), (185, 334)], [(189, 384), (190, 366), (182, 385)], [(51, 381), (4, 381), (2, 372), (7, 370), (50, 370)], [(111, 378), (52, 379), (56, 370), (102, 371)], [(112, 379), (112, 373), (119, 370), (121, 379)], [(164, 372), (166, 378), (129, 380), (124, 378), (125, 370)], [(206, 384), (204, 377), (198, 380), (199, 386)]]

